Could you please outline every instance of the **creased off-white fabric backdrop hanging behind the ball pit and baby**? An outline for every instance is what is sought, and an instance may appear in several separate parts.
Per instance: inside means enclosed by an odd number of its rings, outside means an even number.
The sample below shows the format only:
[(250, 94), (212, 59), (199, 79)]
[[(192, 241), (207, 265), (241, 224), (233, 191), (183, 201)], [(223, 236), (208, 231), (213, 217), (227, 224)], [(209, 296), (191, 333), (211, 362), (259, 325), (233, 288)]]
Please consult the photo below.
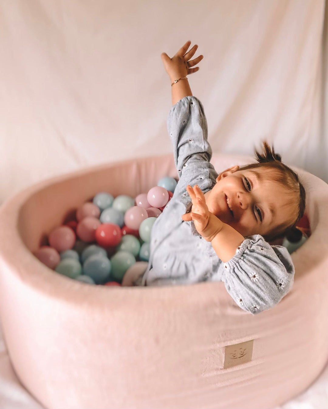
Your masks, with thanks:
[[(0, 203), (84, 166), (171, 152), (160, 54), (187, 40), (204, 55), (189, 82), (213, 151), (252, 155), (267, 138), (284, 162), (328, 182), (324, 0), (0, 5)], [(2, 354), (1, 407), (36, 407)], [(306, 407), (322, 407), (320, 391)]]

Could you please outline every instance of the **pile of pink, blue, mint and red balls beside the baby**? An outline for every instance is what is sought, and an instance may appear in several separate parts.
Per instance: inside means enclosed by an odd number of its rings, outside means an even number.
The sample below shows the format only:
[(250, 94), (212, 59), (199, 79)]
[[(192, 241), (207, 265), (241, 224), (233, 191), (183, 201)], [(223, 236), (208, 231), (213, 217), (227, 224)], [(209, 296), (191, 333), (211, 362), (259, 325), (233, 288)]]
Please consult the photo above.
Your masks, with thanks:
[(121, 285), (137, 261), (148, 261), (151, 230), (177, 181), (165, 177), (135, 199), (100, 192), (76, 209), (75, 220), (56, 227), (34, 255), (47, 267), (89, 284)]

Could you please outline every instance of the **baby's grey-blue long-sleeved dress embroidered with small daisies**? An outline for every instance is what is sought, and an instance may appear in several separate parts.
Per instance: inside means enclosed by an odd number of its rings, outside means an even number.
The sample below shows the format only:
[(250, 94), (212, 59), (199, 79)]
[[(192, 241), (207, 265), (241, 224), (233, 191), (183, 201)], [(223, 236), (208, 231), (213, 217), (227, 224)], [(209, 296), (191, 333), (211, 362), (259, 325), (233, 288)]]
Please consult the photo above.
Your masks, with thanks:
[(180, 179), (172, 199), (153, 225), (150, 258), (140, 284), (223, 281), (243, 310), (258, 314), (272, 308), (292, 287), (294, 266), (290, 254), (285, 247), (270, 246), (255, 234), (245, 238), (229, 261), (220, 260), (193, 221), (181, 218), (192, 205), (186, 186), (198, 184), (206, 193), (218, 176), (210, 163), (212, 150), (202, 103), (195, 97), (184, 97), (171, 108), (167, 126)]

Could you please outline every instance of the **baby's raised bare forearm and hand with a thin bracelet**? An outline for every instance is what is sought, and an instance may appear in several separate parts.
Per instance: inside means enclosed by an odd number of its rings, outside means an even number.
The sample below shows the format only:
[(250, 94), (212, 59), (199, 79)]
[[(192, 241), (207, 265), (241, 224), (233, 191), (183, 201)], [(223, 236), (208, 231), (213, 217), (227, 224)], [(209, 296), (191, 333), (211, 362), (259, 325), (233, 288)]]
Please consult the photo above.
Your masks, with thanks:
[(198, 64), (203, 56), (200, 55), (194, 60), (190, 58), (195, 54), (198, 45), (194, 45), (189, 52), (187, 52), (191, 41), (187, 41), (186, 44), (180, 48), (180, 50), (170, 58), (166, 53), (161, 54), (161, 58), (165, 67), (168, 76), (170, 77), (171, 83), (180, 79), (171, 86), (172, 89), (172, 105), (175, 105), (180, 99), (184, 97), (191, 96), (191, 89), (189, 86), (188, 79), (186, 76), (192, 74), (199, 70), (199, 67), (191, 68), (194, 65)]

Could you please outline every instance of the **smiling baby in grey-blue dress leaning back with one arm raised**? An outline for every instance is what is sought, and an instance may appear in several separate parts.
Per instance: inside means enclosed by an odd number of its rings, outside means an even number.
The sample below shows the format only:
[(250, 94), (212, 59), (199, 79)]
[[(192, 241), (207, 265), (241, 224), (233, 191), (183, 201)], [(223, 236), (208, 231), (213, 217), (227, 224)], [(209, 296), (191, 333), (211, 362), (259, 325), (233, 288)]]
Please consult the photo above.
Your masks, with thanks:
[(237, 305), (252, 314), (288, 293), (294, 266), (287, 249), (270, 245), (295, 228), (305, 209), (297, 174), (266, 142), (258, 163), (216, 173), (207, 120), (186, 76), (203, 56), (188, 41), (172, 58), (161, 55), (172, 83), (168, 133), (179, 182), (153, 225), (147, 270), (136, 285), (223, 281)]

